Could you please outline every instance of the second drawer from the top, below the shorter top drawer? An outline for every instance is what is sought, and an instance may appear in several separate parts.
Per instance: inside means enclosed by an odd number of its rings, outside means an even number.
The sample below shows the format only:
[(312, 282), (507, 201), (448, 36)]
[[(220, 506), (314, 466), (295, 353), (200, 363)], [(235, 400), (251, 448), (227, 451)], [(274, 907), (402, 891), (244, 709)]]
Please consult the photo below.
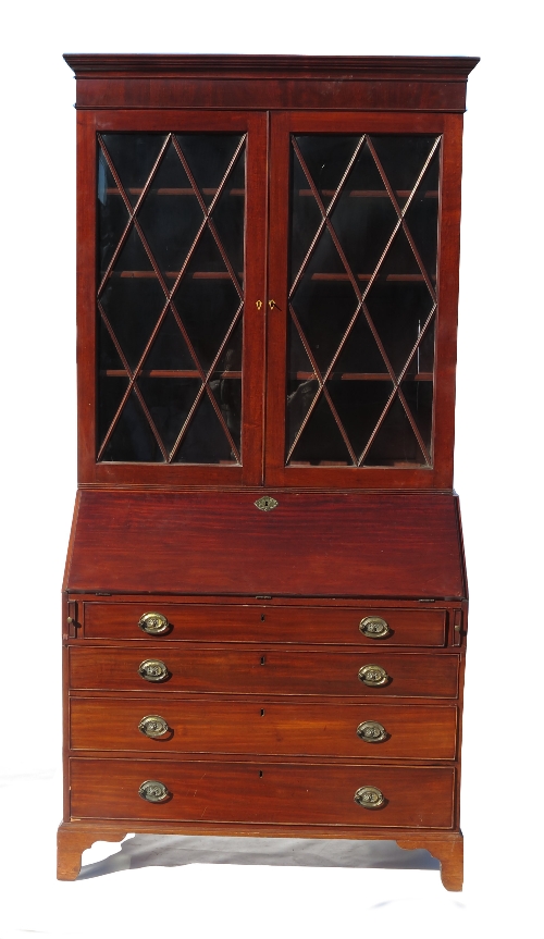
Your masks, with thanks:
[[(139, 674), (145, 662), (159, 662), (166, 679), (148, 681)], [(368, 687), (359, 679), (364, 666), (380, 666), (386, 681)], [(153, 666), (154, 668), (154, 666)], [(157, 666), (159, 669), (159, 666)], [(72, 689), (157, 692), (220, 692), (222, 694), (342, 694), (381, 697), (410, 695), (456, 697), (459, 656), (397, 653), (373, 648), (361, 652), (299, 651), (231, 645), (139, 645), (70, 648)], [(160, 677), (160, 676), (159, 676)]]

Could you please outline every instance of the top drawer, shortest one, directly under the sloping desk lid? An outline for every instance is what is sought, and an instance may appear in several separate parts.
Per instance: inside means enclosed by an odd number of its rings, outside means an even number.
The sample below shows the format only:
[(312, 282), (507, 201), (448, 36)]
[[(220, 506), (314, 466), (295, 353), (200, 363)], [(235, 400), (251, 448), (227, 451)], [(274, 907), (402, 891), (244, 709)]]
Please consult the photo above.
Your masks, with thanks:
[[(194, 642), (299, 642), (355, 645), (441, 646), (446, 638), (444, 609), (368, 609), (357, 607), (203, 606), (197, 604), (85, 603), (86, 639), (145, 640), (138, 627), (146, 613), (160, 613), (169, 622), (164, 639)], [(359, 626), (369, 617), (387, 623), (383, 638), (364, 635)]]

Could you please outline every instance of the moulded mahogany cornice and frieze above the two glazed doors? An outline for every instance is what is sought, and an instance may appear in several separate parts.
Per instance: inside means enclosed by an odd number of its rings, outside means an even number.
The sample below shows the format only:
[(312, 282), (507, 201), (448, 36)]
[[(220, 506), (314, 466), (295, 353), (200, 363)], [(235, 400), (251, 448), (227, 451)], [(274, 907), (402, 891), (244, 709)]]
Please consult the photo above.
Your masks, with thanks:
[(78, 108), (336, 111), (463, 111), (467, 77), (479, 61), (392, 55), (64, 58), (77, 75)]

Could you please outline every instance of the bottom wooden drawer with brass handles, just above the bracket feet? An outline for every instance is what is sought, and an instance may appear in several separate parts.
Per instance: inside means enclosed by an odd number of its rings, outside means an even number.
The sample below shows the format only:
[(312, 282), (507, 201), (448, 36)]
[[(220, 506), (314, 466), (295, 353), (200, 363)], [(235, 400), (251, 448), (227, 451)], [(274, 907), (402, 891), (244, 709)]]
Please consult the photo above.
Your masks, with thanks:
[[(453, 827), (455, 770), (449, 767), (85, 758), (70, 763), (75, 818)], [(149, 780), (166, 788), (166, 801), (150, 803), (138, 794)], [(356, 792), (367, 787), (382, 793), (379, 807), (355, 801)]]

